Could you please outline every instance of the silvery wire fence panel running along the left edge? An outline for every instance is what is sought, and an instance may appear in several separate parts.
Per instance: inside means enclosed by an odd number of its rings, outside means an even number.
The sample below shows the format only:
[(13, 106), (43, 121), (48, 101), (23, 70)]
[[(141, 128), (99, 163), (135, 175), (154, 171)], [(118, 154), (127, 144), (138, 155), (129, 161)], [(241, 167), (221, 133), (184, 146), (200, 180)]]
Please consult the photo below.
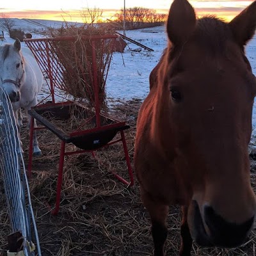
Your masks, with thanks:
[(21, 153), (19, 131), (8, 95), (0, 88), (0, 170), (3, 173), (4, 192), (12, 233), (22, 235), (24, 255), (35, 255), (33, 237), (36, 239), (37, 255), (41, 256), (35, 216), (31, 205), (26, 168)]

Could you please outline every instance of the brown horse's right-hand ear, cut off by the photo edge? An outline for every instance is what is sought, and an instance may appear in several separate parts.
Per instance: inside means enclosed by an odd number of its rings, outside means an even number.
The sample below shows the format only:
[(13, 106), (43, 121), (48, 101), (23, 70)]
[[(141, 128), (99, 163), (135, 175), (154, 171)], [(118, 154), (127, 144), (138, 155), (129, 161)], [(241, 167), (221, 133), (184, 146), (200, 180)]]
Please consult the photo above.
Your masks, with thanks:
[(229, 26), (237, 43), (241, 46), (246, 45), (253, 37), (256, 28), (256, 1), (232, 19)]

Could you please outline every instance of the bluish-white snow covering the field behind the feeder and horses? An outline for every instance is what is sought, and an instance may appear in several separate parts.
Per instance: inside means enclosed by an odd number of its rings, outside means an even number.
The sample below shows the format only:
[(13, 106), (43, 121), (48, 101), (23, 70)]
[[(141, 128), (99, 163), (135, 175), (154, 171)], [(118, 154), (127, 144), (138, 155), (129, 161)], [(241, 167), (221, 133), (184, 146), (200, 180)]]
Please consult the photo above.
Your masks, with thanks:
[[(20, 28), (24, 26), (22, 22), (24, 22), (24, 19), (20, 20)], [(32, 26), (33, 23), (36, 25), (37, 29), (45, 28), (45, 26), (56, 26), (56, 22), (43, 22), (42, 20), (30, 20), (29, 26)], [(120, 31), (120, 33), (122, 33), (122, 31)], [(149, 90), (148, 77), (150, 71), (156, 66), (167, 44), (164, 26), (126, 31), (126, 36), (154, 49), (154, 51), (150, 52), (140, 49), (137, 45), (129, 43), (124, 53), (115, 52), (106, 83), (107, 95), (112, 99), (144, 99)], [(33, 37), (38, 38), (40, 35), (33, 35)], [(6, 41), (13, 42), (13, 40), (8, 37)], [(141, 51), (132, 51), (138, 49)], [(246, 47), (246, 56), (252, 65), (253, 74), (256, 76), (256, 35)], [(45, 93), (47, 93), (46, 85), (40, 97), (44, 97)], [(256, 135), (256, 102), (253, 106), (252, 123), (253, 129), (255, 129), (253, 134)]]

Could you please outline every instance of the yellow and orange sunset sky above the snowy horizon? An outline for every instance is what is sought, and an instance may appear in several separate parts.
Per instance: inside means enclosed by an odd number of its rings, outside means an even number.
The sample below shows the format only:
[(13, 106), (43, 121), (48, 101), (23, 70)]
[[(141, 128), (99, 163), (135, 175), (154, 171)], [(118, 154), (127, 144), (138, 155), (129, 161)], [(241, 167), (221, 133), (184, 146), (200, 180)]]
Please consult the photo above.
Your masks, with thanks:
[[(171, 1), (167, 0), (125, 0), (125, 7), (140, 6), (152, 8), (159, 13), (167, 13)], [(214, 14), (226, 20), (232, 19), (252, 1), (204, 0), (189, 1), (198, 16)], [(0, 14), (11, 18), (49, 19), (83, 22), (81, 10), (86, 8), (99, 8), (103, 10), (102, 20), (111, 19), (114, 13), (124, 8), (124, 0), (7, 0), (1, 1)]]

